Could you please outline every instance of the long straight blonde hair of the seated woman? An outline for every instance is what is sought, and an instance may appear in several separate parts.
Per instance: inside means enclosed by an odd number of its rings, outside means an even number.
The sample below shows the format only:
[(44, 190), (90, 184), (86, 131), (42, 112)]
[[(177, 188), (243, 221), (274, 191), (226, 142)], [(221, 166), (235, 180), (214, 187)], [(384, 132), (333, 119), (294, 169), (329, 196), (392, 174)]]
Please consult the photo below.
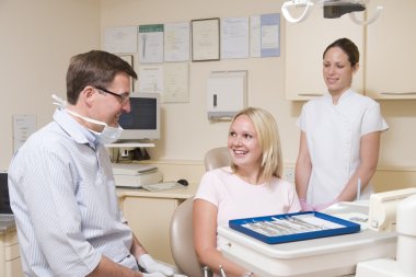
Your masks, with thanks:
[[(247, 107), (240, 111), (233, 117), (231, 125), (241, 115), (249, 116), (256, 129), (258, 143), (262, 149), (261, 169), (265, 181), (269, 183), (273, 176), (280, 178), (282, 174), (282, 158), (279, 130), (275, 117), (266, 109)], [(233, 172), (236, 171), (236, 165), (233, 162), (231, 162), (231, 169)]]

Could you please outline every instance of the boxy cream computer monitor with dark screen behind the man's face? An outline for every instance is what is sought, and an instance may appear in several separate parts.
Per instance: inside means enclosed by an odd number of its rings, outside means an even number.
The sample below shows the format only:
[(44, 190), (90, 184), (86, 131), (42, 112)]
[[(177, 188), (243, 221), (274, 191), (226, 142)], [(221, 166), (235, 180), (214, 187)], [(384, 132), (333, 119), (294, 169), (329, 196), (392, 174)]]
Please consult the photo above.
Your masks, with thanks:
[(130, 94), (130, 113), (119, 118), (124, 129), (120, 141), (160, 139), (160, 94), (134, 92)]

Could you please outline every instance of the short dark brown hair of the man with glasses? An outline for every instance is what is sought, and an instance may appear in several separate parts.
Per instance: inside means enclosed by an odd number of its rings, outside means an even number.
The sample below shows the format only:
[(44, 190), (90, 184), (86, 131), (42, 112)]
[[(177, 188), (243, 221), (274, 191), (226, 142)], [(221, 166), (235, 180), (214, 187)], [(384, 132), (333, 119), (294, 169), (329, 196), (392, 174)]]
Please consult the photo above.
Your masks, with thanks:
[(67, 72), (67, 101), (77, 104), (80, 92), (86, 86), (106, 88), (118, 73), (134, 79), (137, 74), (131, 66), (120, 57), (102, 50), (73, 56)]

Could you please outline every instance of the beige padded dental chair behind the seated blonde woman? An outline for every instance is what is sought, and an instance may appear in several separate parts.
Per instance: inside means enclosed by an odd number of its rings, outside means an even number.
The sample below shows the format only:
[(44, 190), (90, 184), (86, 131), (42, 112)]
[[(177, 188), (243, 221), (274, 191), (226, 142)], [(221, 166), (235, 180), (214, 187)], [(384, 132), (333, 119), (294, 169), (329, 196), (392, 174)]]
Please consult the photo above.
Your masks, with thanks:
[[(227, 166), (231, 157), (227, 147), (210, 149), (205, 154), (205, 170)], [(204, 277), (203, 265), (199, 264), (194, 249), (193, 200), (183, 201), (173, 212), (171, 220), (171, 252), (180, 270), (188, 277)]]

